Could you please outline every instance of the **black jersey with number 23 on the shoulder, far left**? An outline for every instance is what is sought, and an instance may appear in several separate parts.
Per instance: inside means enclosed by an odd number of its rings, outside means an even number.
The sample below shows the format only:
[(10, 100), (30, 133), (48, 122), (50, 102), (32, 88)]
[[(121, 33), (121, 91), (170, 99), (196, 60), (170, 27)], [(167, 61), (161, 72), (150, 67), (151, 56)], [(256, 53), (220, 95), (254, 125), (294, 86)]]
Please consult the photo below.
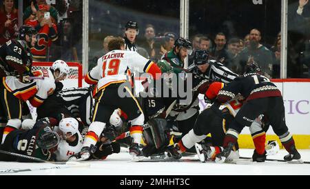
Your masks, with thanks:
[(12, 39), (0, 46), (0, 77), (28, 74), (31, 66), (32, 54), (25, 41)]

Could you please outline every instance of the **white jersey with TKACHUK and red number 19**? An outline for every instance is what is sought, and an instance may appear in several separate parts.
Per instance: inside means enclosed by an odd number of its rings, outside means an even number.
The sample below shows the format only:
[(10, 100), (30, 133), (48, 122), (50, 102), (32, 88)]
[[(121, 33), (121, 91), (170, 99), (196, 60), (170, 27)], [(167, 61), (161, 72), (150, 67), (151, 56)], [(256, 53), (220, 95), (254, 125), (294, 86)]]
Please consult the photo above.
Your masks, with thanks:
[(127, 69), (131, 71), (147, 72), (156, 79), (161, 70), (156, 63), (145, 59), (138, 52), (112, 50), (98, 59), (97, 66), (92, 68), (85, 77), (86, 83), (98, 83), (98, 89), (105, 88), (112, 83), (123, 83), (127, 80)]

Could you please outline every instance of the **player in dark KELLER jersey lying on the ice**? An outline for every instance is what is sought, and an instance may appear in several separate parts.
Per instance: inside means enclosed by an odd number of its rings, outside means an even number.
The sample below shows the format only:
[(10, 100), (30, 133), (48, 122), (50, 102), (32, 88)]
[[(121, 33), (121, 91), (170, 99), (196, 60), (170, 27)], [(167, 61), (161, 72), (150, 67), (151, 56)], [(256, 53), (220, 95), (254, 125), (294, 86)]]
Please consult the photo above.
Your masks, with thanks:
[[(1, 150), (54, 161), (52, 148), (59, 143), (59, 135), (52, 131), (58, 122), (53, 118), (40, 119), (30, 130), (14, 130), (0, 146)], [(12, 155), (0, 154), (0, 161), (33, 161)]]

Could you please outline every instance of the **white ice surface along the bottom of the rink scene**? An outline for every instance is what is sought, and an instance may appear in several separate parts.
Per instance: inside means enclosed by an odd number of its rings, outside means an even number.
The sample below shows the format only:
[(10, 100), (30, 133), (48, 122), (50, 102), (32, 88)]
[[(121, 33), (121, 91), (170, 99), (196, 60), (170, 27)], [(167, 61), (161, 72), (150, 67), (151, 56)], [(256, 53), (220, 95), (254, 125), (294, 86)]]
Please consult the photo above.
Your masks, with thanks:
[[(304, 161), (310, 161), (310, 150), (299, 151)], [(252, 152), (251, 149), (240, 149), (240, 156), (251, 157)], [(283, 159), (285, 155), (287, 152), (280, 150), (277, 155), (267, 158)], [(198, 157), (183, 157), (182, 159), (198, 159)], [(310, 175), (310, 164), (306, 163), (266, 161), (236, 165), (201, 163), (200, 161), (132, 162), (127, 152), (111, 155), (103, 161), (83, 161), (81, 163), (84, 167), (65, 168), (65, 165), (53, 163), (0, 162), (0, 170), (61, 167), (60, 169), (32, 170), (1, 175)]]

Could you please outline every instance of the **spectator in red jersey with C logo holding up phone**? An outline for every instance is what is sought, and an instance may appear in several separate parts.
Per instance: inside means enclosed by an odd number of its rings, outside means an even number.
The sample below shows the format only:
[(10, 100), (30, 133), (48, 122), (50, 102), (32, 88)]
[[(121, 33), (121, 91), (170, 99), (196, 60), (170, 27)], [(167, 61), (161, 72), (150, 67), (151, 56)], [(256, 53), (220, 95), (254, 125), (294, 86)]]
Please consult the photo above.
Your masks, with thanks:
[(38, 31), (38, 39), (31, 52), (34, 61), (48, 61), (49, 48), (52, 41), (56, 41), (58, 33), (56, 25), (52, 23), (52, 17), (45, 17), (45, 12), (48, 12), (48, 6), (39, 6), (37, 10), (37, 19), (28, 21), (28, 25), (33, 26)]

